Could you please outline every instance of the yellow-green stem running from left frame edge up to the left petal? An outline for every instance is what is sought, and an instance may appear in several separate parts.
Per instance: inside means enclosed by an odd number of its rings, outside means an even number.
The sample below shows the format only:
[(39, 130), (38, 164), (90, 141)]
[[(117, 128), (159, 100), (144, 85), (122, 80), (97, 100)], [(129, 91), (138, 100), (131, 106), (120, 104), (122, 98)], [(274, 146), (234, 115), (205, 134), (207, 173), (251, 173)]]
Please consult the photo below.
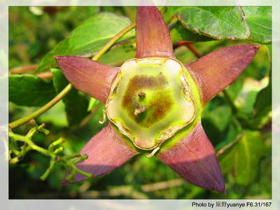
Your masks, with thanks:
[(59, 94), (57, 94), (57, 96), (54, 99), (52, 99), (50, 102), (48, 102), (48, 104), (45, 104), (45, 106), (41, 107), (41, 109), (38, 109), (34, 113), (31, 113), (29, 116), (20, 118), (19, 120), (15, 120), (12, 123), (9, 123), (10, 129), (19, 127), (20, 125), (23, 125), (23, 124), (29, 122), (30, 120), (40, 116), (42, 113), (45, 113), (45, 111), (48, 111), (50, 108), (52, 108), (52, 106), (55, 106), (55, 104), (57, 104), (57, 102), (59, 102), (71, 90), (71, 88), (72, 88), (72, 85), (68, 84), (62, 90), (62, 92), (59, 92)]

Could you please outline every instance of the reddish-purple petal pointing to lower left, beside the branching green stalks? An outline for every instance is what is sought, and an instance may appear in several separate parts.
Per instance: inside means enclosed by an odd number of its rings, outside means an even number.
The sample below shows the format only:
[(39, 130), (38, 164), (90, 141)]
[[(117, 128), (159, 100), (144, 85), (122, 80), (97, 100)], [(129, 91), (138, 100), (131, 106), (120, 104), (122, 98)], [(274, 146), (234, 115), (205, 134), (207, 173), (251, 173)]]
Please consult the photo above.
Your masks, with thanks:
[[(95, 177), (112, 172), (137, 155), (138, 152), (109, 123), (99, 134), (87, 142), (80, 154), (86, 154), (88, 158), (76, 166)], [(87, 178), (81, 174), (75, 176), (76, 181), (84, 179)]]

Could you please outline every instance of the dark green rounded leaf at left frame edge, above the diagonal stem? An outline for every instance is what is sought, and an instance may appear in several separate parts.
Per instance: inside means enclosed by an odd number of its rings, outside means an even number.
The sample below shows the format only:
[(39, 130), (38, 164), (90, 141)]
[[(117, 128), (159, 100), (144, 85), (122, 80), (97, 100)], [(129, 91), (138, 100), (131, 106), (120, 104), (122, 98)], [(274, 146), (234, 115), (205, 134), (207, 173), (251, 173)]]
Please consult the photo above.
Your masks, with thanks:
[(31, 74), (9, 76), (9, 101), (18, 106), (43, 106), (56, 95), (52, 83)]

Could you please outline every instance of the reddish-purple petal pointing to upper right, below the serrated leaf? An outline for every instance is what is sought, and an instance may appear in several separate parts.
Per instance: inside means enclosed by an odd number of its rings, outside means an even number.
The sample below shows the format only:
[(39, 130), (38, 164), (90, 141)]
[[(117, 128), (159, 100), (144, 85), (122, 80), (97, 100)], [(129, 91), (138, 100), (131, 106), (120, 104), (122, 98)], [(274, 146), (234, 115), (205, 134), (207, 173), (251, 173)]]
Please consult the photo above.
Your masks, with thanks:
[(259, 45), (221, 48), (186, 65), (200, 87), (202, 104), (230, 85), (251, 62)]

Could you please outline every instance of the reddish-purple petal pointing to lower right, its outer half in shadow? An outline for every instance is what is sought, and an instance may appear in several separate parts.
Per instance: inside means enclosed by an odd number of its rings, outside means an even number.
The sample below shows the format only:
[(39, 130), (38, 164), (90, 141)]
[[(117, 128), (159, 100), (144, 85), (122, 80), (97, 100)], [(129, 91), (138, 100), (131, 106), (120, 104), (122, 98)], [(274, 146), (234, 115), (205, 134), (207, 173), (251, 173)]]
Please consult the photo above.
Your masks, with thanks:
[(201, 123), (197, 123), (193, 131), (181, 141), (157, 156), (190, 183), (225, 193), (215, 150)]

